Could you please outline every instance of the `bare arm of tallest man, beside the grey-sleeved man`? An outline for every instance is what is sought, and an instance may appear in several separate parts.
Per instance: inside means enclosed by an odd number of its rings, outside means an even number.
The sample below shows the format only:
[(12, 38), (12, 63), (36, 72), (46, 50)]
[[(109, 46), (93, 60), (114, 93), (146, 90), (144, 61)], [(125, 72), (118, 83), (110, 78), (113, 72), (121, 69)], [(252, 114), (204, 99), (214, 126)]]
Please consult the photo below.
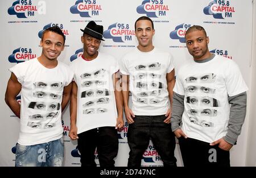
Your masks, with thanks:
[(170, 109), (168, 109), (166, 113), (166, 119), (164, 120), (165, 123), (170, 123), (171, 122), (171, 113), (172, 113), (172, 95), (173, 95), (173, 89), (174, 89), (174, 84), (175, 84), (175, 77), (174, 77), (174, 69), (166, 74), (166, 81), (167, 81), (167, 90), (169, 93), (169, 99), (170, 99)]

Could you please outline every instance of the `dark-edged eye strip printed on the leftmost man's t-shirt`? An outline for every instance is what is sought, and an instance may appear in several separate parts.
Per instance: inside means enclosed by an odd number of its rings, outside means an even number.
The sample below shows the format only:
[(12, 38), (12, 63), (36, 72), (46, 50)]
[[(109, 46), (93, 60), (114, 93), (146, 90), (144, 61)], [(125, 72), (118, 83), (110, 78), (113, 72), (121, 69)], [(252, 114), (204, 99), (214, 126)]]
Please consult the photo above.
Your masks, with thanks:
[(60, 104), (57, 102), (30, 102), (28, 108), (44, 111), (53, 111), (59, 110)]

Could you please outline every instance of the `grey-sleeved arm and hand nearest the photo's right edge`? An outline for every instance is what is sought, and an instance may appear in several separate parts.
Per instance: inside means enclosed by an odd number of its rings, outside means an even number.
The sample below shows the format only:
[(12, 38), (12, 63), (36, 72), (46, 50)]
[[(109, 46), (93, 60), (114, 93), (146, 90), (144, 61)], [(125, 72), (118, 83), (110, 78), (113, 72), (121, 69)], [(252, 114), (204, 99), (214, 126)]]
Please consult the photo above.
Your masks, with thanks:
[(211, 143), (211, 145), (218, 144), (222, 150), (229, 151), (230, 148), (237, 142), (238, 136), (241, 134), (242, 125), (245, 121), (246, 115), (246, 92), (229, 97), (230, 114), (228, 122), (228, 133), (221, 139)]

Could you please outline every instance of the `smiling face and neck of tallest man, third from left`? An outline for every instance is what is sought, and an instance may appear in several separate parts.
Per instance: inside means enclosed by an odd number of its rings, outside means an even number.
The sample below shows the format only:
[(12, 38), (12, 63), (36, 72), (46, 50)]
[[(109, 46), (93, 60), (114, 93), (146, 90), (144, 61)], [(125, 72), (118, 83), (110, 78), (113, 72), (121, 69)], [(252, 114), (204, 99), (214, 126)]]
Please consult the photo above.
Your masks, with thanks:
[(152, 27), (150, 20), (139, 20), (136, 23), (135, 36), (138, 39), (138, 49), (142, 52), (151, 51), (153, 48), (152, 38), (155, 30)]

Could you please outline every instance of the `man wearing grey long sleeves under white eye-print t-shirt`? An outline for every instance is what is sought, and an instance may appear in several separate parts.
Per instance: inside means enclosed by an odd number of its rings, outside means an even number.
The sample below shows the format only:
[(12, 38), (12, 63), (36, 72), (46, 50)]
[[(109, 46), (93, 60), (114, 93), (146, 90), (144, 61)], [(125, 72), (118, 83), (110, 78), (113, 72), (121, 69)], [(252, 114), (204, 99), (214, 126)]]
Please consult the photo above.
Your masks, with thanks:
[(177, 73), (171, 119), (184, 166), (229, 167), (229, 150), (245, 119), (247, 86), (233, 60), (209, 52), (203, 27), (189, 28), (185, 40), (193, 61)]

